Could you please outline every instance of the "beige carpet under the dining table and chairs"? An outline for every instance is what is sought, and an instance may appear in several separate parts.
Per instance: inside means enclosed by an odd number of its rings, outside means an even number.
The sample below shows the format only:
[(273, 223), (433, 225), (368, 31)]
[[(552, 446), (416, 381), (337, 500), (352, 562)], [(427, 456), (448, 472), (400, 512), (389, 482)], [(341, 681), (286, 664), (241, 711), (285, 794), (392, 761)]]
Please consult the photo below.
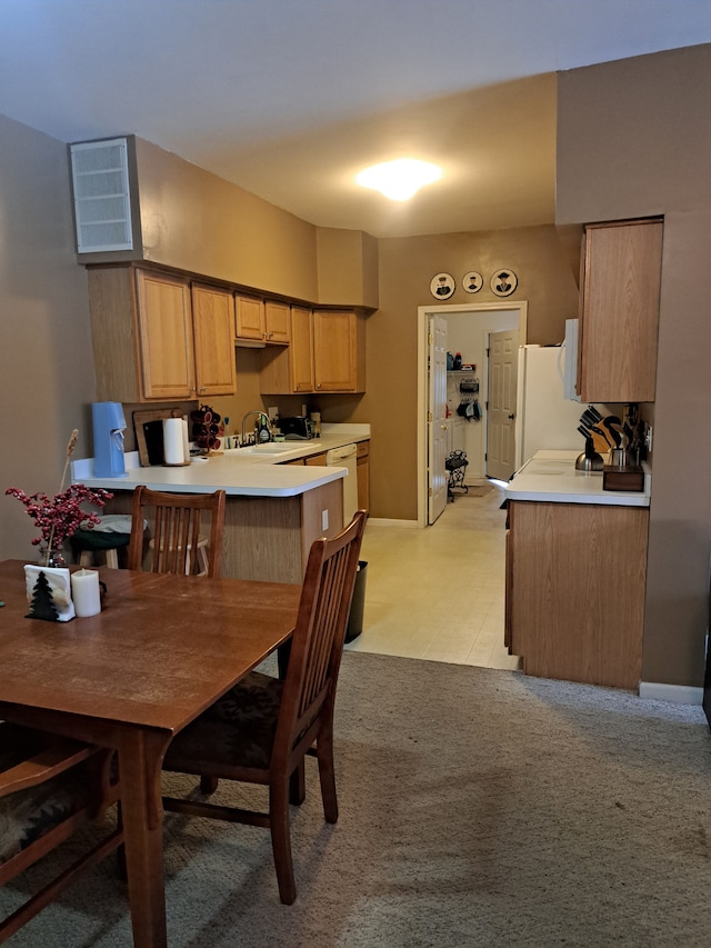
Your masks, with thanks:
[[(348, 652), (337, 761), (332, 828), (309, 761), (290, 907), (264, 830), (167, 817), (171, 948), (711, 945), (698, 707)], [(112, 860), (10, 944), (129, 948)]]

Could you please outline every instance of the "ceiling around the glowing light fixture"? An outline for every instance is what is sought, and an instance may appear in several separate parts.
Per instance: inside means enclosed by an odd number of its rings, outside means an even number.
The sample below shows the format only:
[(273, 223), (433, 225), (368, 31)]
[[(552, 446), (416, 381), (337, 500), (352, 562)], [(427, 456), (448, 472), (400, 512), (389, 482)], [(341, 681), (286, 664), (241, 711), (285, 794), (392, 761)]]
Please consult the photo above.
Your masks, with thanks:
[[(134, 133), (323, 227), (525, 227), (553, 221), (555, 71), (710, 41), (711, 0), (2, 0), (0, 113)], [(401, 157), (444, 176), (354, 183)]]

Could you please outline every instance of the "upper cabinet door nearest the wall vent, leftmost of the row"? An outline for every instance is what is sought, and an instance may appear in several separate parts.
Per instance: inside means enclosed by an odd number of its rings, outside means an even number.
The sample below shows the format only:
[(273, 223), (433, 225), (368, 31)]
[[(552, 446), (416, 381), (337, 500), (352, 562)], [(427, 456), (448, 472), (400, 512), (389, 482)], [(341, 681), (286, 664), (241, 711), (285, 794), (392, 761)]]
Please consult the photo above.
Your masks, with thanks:
[(196, 397), (190, 288), (186, 280), (137, 271), (141, 379), (147, 399)]

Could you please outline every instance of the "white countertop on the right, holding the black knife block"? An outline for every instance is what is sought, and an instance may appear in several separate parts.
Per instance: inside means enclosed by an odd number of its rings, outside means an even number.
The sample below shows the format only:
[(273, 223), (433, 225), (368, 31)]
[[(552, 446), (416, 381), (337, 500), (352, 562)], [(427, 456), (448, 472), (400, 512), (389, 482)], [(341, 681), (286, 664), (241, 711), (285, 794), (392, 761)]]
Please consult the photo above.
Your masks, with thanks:
[(575, 470), (578, 455), (579, 451), (537, 451), (507, 483), (507, 500), (649, 507), (652, 476), (645, 465), (643, 491), (603, 490), (602, 471)]

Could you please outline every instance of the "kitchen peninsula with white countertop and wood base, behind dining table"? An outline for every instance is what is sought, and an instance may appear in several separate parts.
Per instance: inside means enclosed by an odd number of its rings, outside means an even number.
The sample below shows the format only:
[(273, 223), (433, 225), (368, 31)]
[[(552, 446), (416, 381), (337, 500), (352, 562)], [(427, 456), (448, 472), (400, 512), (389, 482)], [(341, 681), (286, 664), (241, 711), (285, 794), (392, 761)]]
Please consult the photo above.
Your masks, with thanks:
[[(126, 456), (126, 477), (94, 477), (92, 459), (74, 461), (72, 480), (114, 493), (107, 512), (129, 513), (133, 490), (177, 493), (227, 492), (222, 576), (270, 582), (301, 582), (311, 543), (343, 526), (341, 467), (304, 463), (308, 457), (367, 440), (370, 426), (333, 426), (321, 439), (269, 442), (193, 459), (184, 467), (140, 467), (138, 453)], [(358, 430), (350, 430), (351, 428)], [(264, 450), (264, 448), (267, 450)]]

